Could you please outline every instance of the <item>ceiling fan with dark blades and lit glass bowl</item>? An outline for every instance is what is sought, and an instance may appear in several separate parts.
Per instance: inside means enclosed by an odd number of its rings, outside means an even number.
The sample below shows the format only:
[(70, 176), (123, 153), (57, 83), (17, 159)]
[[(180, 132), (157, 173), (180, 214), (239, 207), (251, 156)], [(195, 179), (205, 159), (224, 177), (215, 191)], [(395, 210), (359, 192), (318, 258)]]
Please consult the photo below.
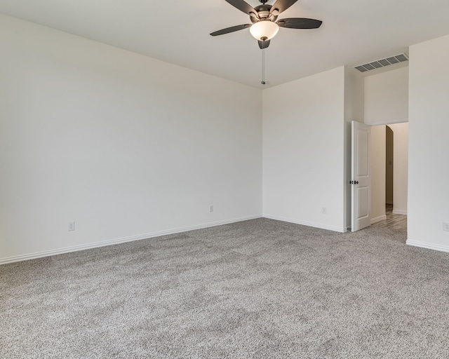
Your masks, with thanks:
[[(286, 11), (297, 0), (276, 0), (273, 5), (266, 4), (268, 0), (259, 0), (262, 5), (253, 8), (243, 0), (225, 0), (234, 8), (250, 16), (252, 24), (236, 25), (211, 33), (212, 36), (229, 34), (239, 30), (250, 28), (250, 33), (258, 41), (259, 47), (264, 49), (269, 46), (269, 41), (277, 34), (279, 27), (290, 29), (318, 29), (323, 23), (321, 20), (307, 18), (286, 18), (277, 20), (278, 15)], [(277, 21), (276, 21), (277, 20)]]

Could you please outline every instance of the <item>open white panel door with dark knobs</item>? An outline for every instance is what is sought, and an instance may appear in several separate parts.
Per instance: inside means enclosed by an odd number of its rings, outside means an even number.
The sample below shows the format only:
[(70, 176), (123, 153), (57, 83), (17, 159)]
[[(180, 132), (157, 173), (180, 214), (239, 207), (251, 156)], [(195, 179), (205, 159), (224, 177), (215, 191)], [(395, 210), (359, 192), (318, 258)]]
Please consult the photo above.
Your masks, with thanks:
[(352, 121), (351, 231), (371, 224), (370, 126)]

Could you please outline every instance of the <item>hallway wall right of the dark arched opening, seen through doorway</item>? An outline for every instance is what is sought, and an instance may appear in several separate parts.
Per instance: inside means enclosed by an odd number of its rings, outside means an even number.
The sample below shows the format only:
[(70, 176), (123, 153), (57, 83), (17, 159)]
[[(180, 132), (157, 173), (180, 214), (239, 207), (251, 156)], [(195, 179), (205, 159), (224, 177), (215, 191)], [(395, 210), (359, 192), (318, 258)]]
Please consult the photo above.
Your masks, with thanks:
[(407, 214), (408, 122), (388, 125), (394, 135), (393, 213)]

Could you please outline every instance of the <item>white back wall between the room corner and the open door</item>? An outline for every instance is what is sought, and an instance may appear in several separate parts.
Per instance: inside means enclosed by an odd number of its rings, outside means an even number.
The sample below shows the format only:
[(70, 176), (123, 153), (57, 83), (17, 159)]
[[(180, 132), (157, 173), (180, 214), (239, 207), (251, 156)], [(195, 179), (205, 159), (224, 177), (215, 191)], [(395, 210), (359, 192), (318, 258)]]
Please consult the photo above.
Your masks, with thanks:
[(264, 216), (344, 231), (344, 67), (262, 97)]

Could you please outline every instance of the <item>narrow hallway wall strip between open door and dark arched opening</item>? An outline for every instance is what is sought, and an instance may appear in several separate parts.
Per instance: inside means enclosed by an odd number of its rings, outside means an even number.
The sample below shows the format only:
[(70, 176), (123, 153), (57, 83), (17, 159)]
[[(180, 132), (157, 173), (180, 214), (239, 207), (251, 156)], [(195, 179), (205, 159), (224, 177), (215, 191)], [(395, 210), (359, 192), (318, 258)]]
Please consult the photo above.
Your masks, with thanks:
[(371, 223), (385, 217), (385, 126), (371, 127)]

